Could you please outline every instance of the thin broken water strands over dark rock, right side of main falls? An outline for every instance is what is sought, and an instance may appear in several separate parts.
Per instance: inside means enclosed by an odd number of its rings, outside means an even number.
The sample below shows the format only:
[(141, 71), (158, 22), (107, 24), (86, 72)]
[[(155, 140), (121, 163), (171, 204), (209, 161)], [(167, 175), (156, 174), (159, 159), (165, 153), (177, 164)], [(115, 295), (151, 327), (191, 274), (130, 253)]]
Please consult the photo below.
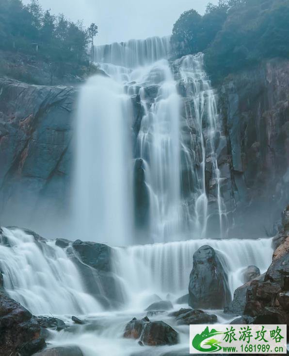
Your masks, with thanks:
[[(208, 74), (204, 70), (204, 54), (187, 55), (179, 60), (179, 73), (186, 92), (185, 115), (189, 121), (193, 118), (195, 137), (193, 147), (193, 196), (194, 210), (191, 216), (191, 228), (199, 237), (207, 237), (208, 220), (218, 215), (219, 230), (214, 237), (226, 237), (226, 211), (220, 185), (221, 175), (217, 162), (217, 139), (221, 136), (217, 94), (211, 87)], [(187, 148), (184, 149), (188, 156)], [(190, 159), (186, 159), (189, 162)], [(217, 212), (208, 209), (208, 191), (206, 187), (206, 167), (211, 166), (212, 177), (209, 184), (214, 187)], [(211, 197), (212, 200), (212, 197)]]

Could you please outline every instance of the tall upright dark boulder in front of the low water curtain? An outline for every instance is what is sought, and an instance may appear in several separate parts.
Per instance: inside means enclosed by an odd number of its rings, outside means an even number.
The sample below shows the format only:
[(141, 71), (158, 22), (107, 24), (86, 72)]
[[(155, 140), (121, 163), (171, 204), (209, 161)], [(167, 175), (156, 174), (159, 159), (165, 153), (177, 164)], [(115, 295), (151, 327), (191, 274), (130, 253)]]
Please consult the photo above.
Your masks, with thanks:
[(228, 278), (215, 253), (208, 245), (193, 254), (189, 283), (189, 305), (193, 308), (220, 309), (231, 300)]

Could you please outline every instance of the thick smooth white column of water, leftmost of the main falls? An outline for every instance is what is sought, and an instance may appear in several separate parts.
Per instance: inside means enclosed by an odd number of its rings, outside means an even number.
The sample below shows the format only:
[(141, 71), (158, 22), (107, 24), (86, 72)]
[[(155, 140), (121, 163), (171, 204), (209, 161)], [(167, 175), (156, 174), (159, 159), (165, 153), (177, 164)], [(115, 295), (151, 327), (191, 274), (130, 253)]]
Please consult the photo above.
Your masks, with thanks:
[(131, 106), (123, 85), (90, 78), (80, 90), (74, 182), (74, 230), (82, 239), (131, 241)]

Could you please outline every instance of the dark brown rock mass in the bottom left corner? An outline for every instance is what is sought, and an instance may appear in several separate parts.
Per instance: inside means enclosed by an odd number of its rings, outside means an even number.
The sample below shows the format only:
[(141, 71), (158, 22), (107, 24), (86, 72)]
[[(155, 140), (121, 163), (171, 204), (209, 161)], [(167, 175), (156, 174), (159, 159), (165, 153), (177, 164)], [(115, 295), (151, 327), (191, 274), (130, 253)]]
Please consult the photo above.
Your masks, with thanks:
[(45, 347), (40, 326), (32, 314), (15, 300), (0, 292), (0, 354), (31, 356)]

